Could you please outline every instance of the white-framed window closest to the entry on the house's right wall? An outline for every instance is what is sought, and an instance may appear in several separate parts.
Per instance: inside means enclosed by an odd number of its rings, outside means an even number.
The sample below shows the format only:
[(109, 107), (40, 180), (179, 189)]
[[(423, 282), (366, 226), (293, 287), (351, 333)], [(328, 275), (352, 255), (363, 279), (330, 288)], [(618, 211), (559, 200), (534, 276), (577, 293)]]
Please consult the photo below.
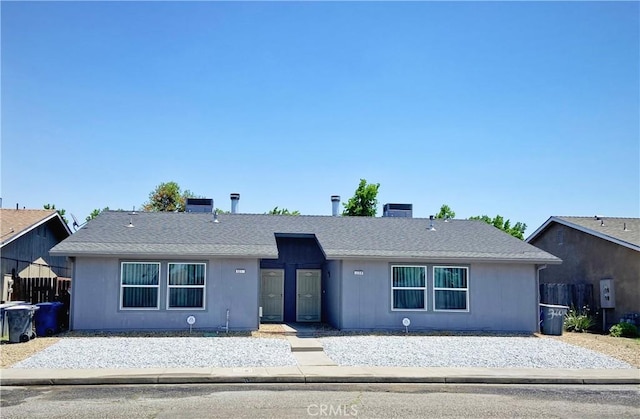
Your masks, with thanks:
[(392, 266), (393, 310), (426, 310), (427, 269), (424, 266)]

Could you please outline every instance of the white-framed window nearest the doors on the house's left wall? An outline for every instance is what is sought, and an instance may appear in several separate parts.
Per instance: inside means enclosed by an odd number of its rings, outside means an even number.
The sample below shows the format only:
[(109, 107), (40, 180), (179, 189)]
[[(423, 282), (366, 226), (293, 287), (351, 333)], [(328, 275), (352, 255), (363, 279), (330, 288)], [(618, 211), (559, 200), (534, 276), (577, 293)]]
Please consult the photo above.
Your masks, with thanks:
[(167, 308), (204, 308), (204, 263), (169, 263)]

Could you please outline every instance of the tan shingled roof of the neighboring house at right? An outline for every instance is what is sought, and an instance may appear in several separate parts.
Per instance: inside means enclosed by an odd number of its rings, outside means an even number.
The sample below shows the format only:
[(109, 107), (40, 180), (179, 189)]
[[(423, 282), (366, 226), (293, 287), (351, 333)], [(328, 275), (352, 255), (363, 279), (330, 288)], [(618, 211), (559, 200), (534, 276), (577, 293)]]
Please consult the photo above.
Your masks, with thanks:
[(528, 238), (531, 243), (550, 224), (558, 223), (592, 236), (640, 251), (640, 218), (623, 217), (550, 217)]

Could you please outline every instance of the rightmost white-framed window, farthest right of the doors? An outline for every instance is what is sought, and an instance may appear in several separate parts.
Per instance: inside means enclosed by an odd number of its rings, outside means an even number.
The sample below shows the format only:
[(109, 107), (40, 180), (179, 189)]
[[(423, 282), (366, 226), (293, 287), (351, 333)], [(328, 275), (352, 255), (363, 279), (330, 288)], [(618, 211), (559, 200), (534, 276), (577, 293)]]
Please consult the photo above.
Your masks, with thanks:
[(468, 268), (433, 267), (434, 310), (469, 310)]

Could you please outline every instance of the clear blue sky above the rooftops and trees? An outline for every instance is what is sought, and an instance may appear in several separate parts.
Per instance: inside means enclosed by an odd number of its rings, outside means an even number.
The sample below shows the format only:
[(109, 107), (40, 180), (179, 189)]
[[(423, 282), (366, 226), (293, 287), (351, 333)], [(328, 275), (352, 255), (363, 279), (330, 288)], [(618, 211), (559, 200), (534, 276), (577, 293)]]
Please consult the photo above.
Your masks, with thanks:
[(640, 216), (638, 2), (3, 1), (3, 207)]

